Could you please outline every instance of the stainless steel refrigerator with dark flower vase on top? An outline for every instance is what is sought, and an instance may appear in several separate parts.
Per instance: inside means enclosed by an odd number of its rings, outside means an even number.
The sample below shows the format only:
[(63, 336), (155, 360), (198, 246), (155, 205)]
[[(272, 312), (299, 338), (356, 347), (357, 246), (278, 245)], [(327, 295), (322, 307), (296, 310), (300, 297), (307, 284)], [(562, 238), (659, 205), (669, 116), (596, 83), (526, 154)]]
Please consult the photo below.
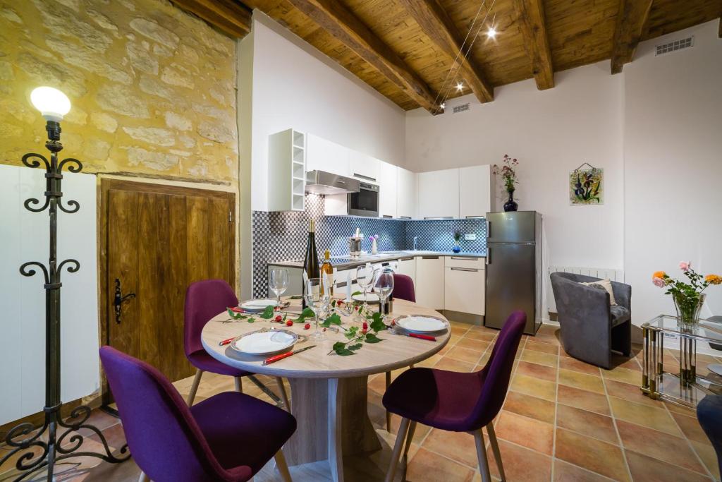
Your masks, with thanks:
[(484, 325), (501, 329), (512, 311), (526, 312), (524, 333), (541, 326), (541, 214), (487, 212)]

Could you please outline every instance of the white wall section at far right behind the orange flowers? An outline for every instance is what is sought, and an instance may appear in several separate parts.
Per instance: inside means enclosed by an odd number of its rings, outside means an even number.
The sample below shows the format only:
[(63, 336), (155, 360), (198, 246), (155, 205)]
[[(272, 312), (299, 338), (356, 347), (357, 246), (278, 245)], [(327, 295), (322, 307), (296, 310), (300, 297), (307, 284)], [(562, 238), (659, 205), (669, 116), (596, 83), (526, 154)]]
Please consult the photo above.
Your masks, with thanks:
[[(625, 76), (625, 270), (635, 321), (674, 313), (651, 274), (691, 260), (722, 274), (722, 40), (718, 22), (640, 45)], [(695, 46), (654, 56), (654, 46), (695, 35)], [(722, 314), (722, 286), (703, 316)]]

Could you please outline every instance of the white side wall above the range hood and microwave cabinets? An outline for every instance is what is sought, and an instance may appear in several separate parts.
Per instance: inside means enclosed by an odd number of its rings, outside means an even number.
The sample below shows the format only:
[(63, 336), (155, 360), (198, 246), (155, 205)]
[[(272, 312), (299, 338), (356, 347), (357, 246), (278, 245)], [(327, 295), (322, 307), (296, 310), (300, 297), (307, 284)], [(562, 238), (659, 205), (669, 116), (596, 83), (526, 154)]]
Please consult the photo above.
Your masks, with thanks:
[[(258, 10), (252, 103), (253, 184), (267, 182), (269, 134), (290, 127), (404, 165), (404, 111)], [(253, 192), (253, 210), (266, 209), (265, 194)]]

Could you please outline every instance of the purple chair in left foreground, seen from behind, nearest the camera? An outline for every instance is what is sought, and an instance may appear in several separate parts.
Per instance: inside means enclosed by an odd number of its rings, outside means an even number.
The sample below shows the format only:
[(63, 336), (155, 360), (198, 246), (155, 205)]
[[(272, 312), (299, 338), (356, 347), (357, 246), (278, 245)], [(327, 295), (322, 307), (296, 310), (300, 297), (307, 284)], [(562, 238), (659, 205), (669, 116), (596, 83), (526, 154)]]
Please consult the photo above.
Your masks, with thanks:
[(141, 481), (248, 481), (271, 457), (290, 475), (281, 447), (290, 414), (250, 395), (223, 392), (188, 408), (160, 371), (110, 346), (100, 348)]

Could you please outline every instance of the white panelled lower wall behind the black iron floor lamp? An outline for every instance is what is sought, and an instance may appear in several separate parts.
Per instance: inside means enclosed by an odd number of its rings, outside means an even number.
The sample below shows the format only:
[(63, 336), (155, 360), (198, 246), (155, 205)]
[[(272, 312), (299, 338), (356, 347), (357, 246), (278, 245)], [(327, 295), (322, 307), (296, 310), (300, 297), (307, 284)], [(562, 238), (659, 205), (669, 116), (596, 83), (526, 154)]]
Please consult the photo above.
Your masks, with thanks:
[[(0, 165), (0, 424), (45, 405), (45, 290), (43, 273), (19, 273), (21, 264), (48, 264), (48, 212), (30, 212), (29, 197), (45, 202), (43, 169)], [(58, 212), (58, 262), (77, 259), (80, 270), (61, 273), (61, 397), (68, 402), (100, 388), (97, 323), (95, 176), (63, 173), (64, 202), (80, 210)]]

